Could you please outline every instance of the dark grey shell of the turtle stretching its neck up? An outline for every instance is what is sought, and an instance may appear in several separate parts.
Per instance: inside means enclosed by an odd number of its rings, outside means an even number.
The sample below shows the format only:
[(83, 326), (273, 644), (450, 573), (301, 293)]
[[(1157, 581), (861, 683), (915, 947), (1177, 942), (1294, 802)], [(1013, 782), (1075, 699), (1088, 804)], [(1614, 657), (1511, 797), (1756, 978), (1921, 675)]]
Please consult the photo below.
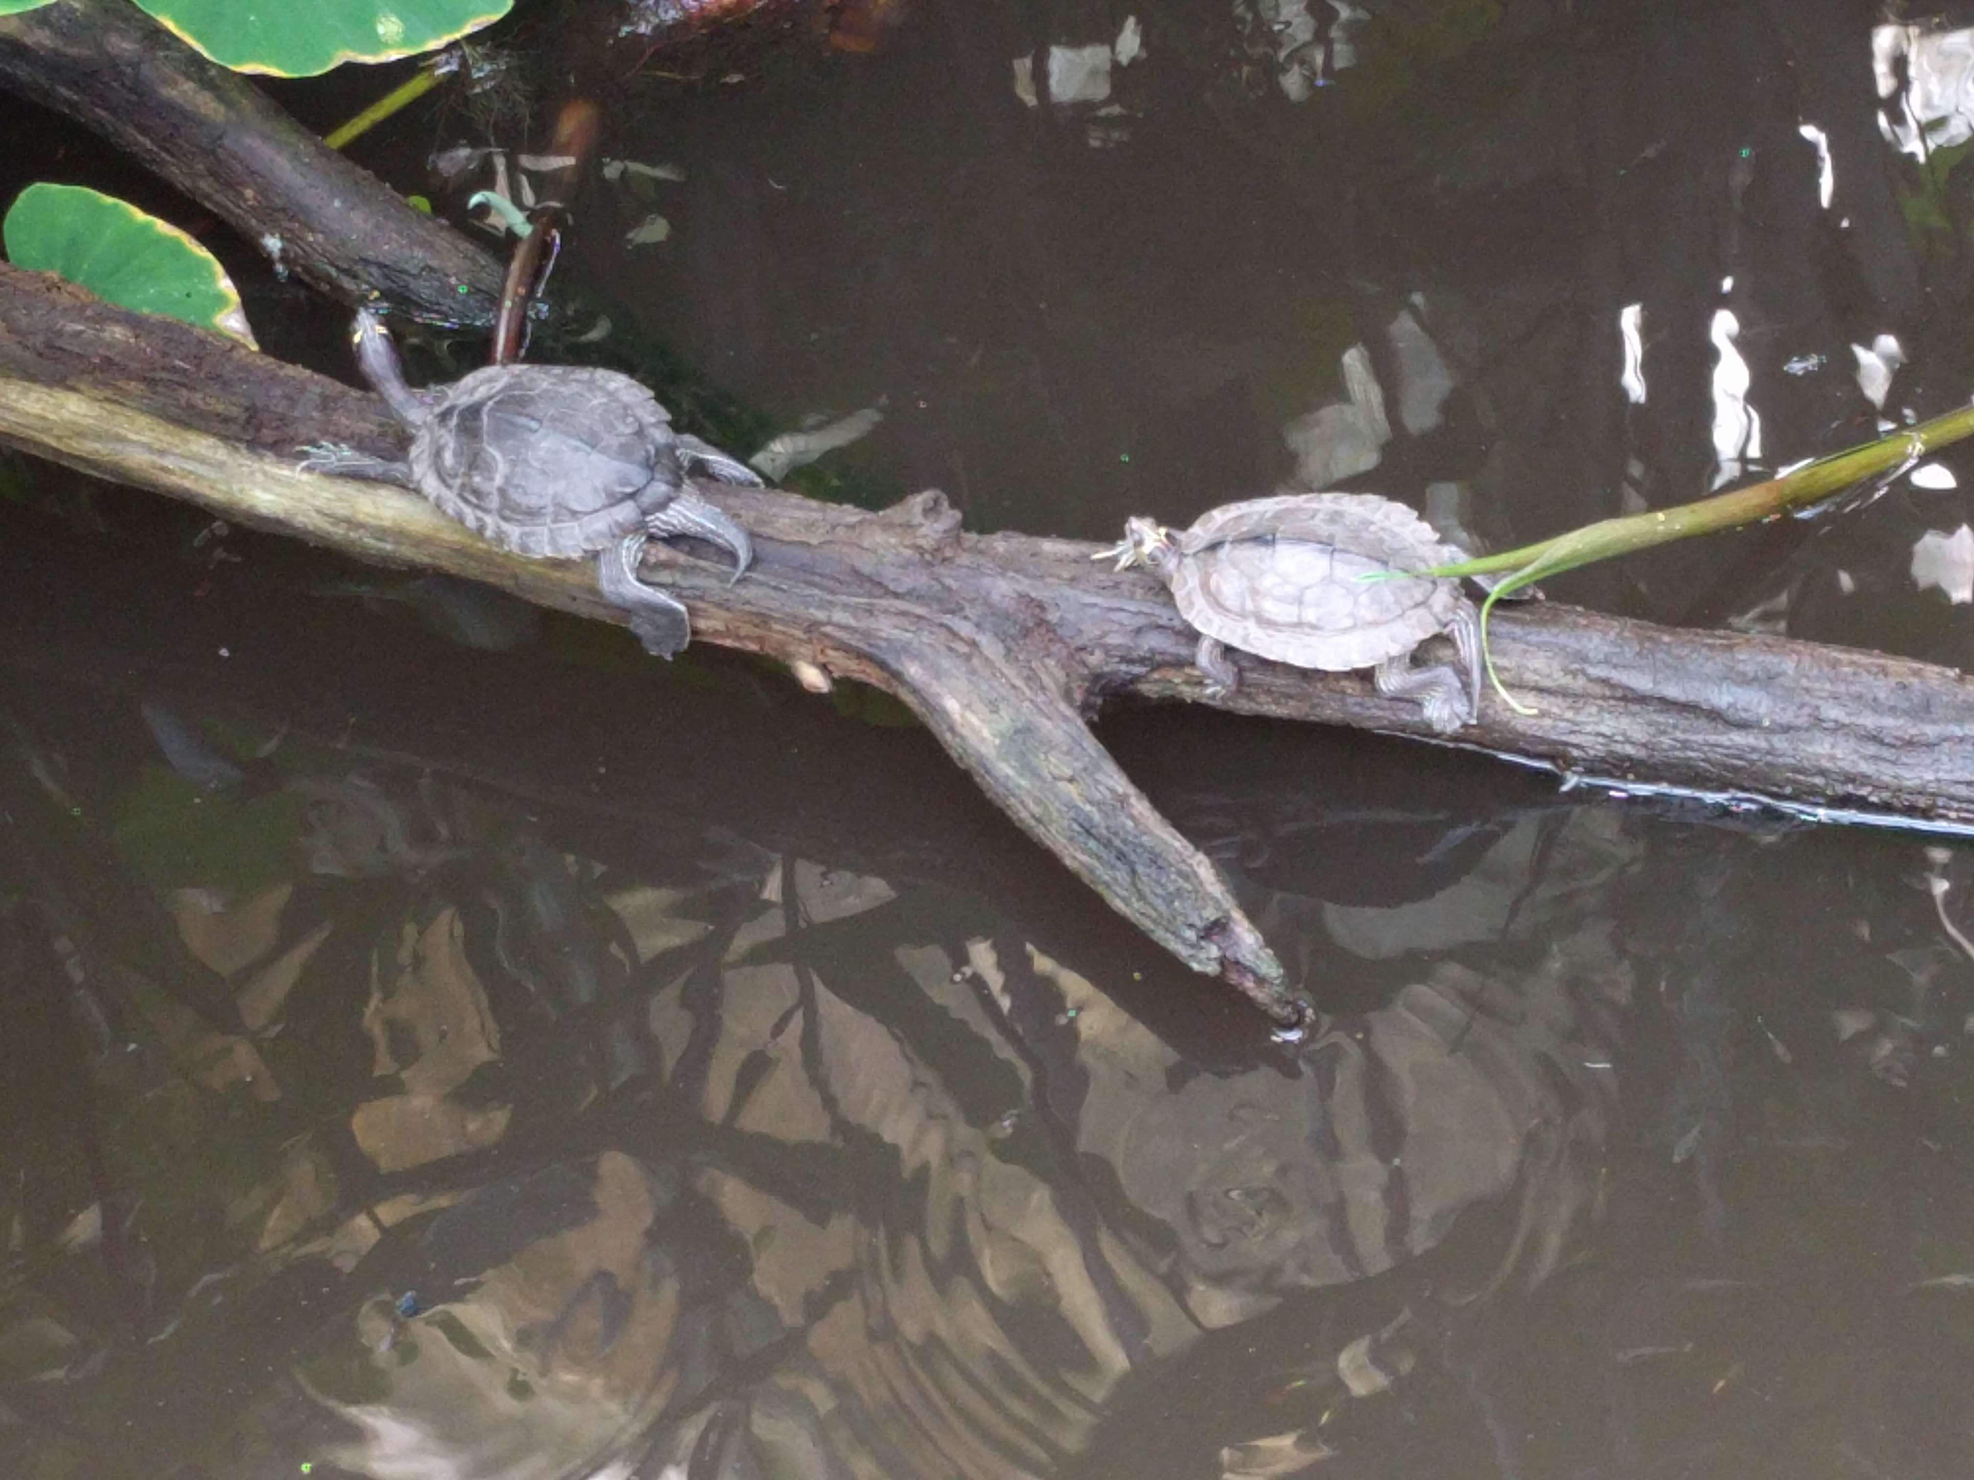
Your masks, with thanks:
[(515, 555), (578, 556), (679, 495), (671, 418), (628, 375), (490, 365), (440, 387), (411, 474), (442, 513)]

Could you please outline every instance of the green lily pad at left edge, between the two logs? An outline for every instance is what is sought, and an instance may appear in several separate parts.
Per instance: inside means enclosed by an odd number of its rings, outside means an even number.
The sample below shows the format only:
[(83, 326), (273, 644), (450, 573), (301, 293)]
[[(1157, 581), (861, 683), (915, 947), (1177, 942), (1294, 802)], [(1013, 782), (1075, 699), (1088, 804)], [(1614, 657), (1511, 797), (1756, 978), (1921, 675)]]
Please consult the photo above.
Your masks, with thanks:
[(81, 185), (28, 185), (0, 237), (14, 266), (57, 272), (111, 304), (219, 330), (259, 349), (219, 260), (128, 201)]

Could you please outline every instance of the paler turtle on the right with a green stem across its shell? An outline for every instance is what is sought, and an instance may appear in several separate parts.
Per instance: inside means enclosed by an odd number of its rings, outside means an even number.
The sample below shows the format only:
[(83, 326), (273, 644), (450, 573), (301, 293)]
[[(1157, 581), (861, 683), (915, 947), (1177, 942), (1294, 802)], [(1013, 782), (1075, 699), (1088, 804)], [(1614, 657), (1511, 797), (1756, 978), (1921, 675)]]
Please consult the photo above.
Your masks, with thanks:
[[(1178, 614), (1200, 631), (1198, 665), (1208, 693), (1234, 691), (1226, 649), (1305, 669), (1374, 667), (1378, 693), (1415, 697), (1441, 734), (1473, 724), (1480, 697), (1480, 618), (1457, 580), (1402, 576), (1465, 560), (1404, 503), (1376, 493), (1277, 493), (1224, 503), (1190, 529), (1129, 519), (1123, 543), (1103, 556), (1117, 568), (1145, 564)], [(1453, 639), (1459, 669), (1415, 669), (1411, 649), (1435, 633)]]

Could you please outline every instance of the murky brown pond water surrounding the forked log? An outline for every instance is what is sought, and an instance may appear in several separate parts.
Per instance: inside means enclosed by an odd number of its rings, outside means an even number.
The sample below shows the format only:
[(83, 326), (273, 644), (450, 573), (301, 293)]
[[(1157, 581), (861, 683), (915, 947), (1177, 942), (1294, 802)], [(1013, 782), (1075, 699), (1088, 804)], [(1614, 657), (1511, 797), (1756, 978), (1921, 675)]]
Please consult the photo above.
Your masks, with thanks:
[[(570, 266), (977, 529), (1504, 545), (1974, 389), (1968, 34), (1370, 12), (738, 45), (610, 95), (685, 180)], [(1556, 594), (1964, 665), (1960, 466)], [(0, 1474), (1974, 1472), (1964, 847), (1111, 716), (1287, 1050), (882, 706), (6, 478)]]

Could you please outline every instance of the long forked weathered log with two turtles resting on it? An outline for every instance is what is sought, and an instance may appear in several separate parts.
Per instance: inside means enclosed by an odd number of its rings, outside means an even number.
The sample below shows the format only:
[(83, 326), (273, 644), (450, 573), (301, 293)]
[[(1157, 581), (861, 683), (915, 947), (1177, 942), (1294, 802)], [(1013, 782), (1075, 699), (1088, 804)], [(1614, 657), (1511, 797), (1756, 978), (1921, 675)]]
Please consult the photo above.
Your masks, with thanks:
[[(361, 560), (622, 622), (588, 564), (509, 556), (401, 489), (294, 472), (308, 442), (397, 456), (403, 436), (375, 397), (0, 268), (0, 440)], [(884, 513), (699, 491), (758, 553), (728, 586), (724, 564), (653, 545), (645, 574), (687, 602), (699, 641), (896, 695), (1147, 935), (1277, 1020), (1299, 1012), (1220, 874), (1084, 722), (1115, 695), (1216, 703), (1155, 578), (1103, 568), (1084, 543), (967, 535), (936, 491)], [(1498, 614), (1494, 657), (1536, 714), (1484, 695), (1463, 744), (1563, 772), (1974, 823), (1974, 681), (1952, 669), (1556, 604)], [(1431, 738), (1417, 706), (1378, 697), (1368, 675), (1236, 663), (1222, 708)]]

